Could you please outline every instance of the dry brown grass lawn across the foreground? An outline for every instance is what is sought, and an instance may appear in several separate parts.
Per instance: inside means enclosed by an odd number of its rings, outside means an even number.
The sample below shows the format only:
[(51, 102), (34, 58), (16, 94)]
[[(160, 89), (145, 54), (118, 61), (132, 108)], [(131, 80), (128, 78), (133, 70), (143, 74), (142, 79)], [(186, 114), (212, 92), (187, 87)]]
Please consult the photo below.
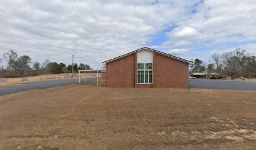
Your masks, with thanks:
[(0, 97), (0, 149), (255, 148), (255, 91), (69, 85)]

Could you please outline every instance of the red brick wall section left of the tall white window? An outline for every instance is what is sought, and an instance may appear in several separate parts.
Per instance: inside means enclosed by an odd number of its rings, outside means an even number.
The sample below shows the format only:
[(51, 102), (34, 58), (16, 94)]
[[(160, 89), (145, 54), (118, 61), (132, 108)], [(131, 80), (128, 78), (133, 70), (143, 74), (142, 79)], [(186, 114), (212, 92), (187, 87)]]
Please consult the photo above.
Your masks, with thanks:
[(135, 56), (136, 54), (131, 54), (106, 64), (107, 87), (134, 87)]

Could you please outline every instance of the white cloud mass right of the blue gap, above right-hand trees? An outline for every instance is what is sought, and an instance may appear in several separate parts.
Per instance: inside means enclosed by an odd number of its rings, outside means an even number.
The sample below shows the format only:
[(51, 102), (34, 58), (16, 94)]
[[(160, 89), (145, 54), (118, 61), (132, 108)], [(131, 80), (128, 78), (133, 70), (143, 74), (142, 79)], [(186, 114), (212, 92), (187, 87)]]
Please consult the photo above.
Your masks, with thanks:
[[(189, 19), (176, 22), (174, 29), (166, 33), (168, 40), (160, 47), (191, 49), (193, 53), (184, 55), (186, 59), (205, 61), (213, 51), (221, 53), (237, 47), (256, 54), (256, 1), (206, 0), (194, 10)], [(196, 36), (183, 36), (184, 27), (195, 29), (197, 34), (191, 30), (191, 35)], [(183, 41), (189, 44), (183, 44)]]

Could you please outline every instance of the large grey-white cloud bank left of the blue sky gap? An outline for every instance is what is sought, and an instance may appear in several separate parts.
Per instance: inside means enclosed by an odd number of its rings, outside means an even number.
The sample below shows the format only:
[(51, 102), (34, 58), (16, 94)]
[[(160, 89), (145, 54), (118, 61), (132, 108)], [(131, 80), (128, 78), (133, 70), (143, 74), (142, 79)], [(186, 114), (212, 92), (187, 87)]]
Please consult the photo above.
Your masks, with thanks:
[[(102, 61), (141, 47), (141, 33), (157, 35), (186, 20), (195, 2), (9, 1), (0, 2), (0, 54), (9, 49), (33, 61), (97, 67)], [(181, 16), (176, 16), (181, 14)]]

